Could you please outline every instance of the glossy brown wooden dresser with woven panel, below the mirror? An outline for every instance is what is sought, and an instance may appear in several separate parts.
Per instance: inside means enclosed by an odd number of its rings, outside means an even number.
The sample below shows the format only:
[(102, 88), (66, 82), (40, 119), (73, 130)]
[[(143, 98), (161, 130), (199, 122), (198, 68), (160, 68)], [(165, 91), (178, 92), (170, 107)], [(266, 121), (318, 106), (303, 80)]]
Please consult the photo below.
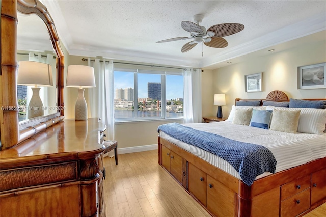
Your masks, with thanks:
[(105, 129), (64, 120), (0, 151), (0, 216), (105, 216)]

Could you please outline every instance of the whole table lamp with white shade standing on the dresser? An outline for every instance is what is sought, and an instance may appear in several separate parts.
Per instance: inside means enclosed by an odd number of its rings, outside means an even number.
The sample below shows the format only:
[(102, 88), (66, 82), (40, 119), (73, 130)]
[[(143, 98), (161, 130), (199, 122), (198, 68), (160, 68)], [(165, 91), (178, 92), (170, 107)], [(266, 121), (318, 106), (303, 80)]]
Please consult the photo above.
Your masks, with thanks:
[(70, 65), (67, 73), (67, 87), (79, 88), (78, 98), (75, 104), (75, 120), (87, 120), (87, 104), (84, 98), (83, 88), (95, 87), (94, 68), (91, 66)]

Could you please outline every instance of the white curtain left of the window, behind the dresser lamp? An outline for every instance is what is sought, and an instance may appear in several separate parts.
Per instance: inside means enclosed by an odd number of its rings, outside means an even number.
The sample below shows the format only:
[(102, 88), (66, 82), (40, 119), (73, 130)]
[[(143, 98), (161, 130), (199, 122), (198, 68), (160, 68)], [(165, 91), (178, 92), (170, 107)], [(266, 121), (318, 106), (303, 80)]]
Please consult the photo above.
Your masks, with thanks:
[(114, 76), (113, 61), (100, 62), (95, 59), (91, 62), (88, 58), (88, 66), (94, 68), (95, 88), (88, 89), (88, 117), (100, 118), (106, 125), (106, 140), (114, 140)]

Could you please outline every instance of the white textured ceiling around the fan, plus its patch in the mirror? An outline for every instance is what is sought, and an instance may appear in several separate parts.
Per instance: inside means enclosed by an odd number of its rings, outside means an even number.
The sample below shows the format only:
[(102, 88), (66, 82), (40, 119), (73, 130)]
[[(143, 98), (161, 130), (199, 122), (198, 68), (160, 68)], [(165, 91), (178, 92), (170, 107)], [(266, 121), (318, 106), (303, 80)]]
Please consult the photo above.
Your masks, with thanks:
[[(326, 1), (42, 2), (55, 20), (60, 40), (70, 55), (183, 67), (215, 69), (248, 53), (326, 30)], [(155, 43), (189, 36), (180, 23), (193, 21), (195, 14), (204, 15), (200, 25), (206, 29), (230, 22), (241, 23), (245, 28), (224, 37), (229, 43), (226, 48), (204, 45), (204, 57), (202, 44), (181, 53), (183, 44), (190, 40)], [(18, 49), (26, 49), (23, 39), (28, 37), (42, 44), (41, 38), (47, 37), (44, 25), (36, 27), (35, 18), (19, 16), (18, 19)], [(37, 37), (29, 35), (30, 30), (34, 35), (37, 33)], [(325, 31), (320, 37), (326, 40)], [(41, 50), (45, 48), (41, 46)]]

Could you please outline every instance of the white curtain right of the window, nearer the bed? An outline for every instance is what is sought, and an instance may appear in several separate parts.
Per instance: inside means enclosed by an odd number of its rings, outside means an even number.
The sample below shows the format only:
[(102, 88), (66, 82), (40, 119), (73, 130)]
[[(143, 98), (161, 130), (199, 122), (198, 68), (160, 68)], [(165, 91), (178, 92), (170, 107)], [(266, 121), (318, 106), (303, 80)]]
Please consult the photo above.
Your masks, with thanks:
[(187, 69), (184, 71), (184, 123), (201, 123), (202, 99), (201, 99), (201, 69)]

